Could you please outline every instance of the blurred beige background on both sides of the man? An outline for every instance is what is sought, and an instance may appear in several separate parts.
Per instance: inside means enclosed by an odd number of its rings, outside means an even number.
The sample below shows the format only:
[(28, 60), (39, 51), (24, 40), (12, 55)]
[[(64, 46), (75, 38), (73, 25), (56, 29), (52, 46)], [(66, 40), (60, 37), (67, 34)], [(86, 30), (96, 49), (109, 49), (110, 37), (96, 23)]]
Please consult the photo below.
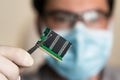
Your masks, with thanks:
[[(21, 47), (26, 50), (32, 47), (38, 39), (37, 33), (33, 29), (35, 28), (35, 17), (31, 0), (0, 0), (0, 45)], [(112, 55), (107, 65), (108, 70), (113, 70), (113, 72), (120, 72), (119, 21), (120, 0), (116, 0), (114, 10), (115, 39)], [(26, 37), (27, 35), (29, 37)]]

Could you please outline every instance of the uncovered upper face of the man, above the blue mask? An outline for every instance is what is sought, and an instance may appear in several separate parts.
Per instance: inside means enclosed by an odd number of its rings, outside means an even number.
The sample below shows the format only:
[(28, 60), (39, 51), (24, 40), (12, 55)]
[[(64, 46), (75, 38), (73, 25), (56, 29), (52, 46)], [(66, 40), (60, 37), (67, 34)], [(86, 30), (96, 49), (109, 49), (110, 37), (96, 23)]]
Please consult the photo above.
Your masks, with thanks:
[[(108, 26), (108, 18), (105, 16), (109, 12), (107, 0), (48, 0), (45, 11), (52, 14), (46, 17), (46, 24), (52, 29), (69, 28), (72, 22), (67, 19), (71, 15), (82, 16), (85, 13), (90, 13), (89, 17), (96, 15), (94, 11), (98, 11), (98, 18), (93, 20), (88, 18), (83, 21), (80, 18), (75, 18), (76, 20), (73, 22), (81, 21), (89, 28), (107, 29)], [(94, 15), (91, 15), (91, 12)]]

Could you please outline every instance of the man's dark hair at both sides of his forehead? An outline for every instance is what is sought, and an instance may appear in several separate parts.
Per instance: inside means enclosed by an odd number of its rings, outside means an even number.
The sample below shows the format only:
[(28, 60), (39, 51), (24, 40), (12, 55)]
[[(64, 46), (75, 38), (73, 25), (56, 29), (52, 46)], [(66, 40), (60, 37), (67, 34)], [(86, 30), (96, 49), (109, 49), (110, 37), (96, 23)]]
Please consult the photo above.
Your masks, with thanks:
[[(45, 7), (46, 2), (47, 0), (33, 0), (33, 7), (36, 9), (39, 15), (44, 14), (44, 7)], [(108, 2), (109, 9), (110, 9), (109, 15), (111, 15), (113, 12), (115, 0), (107, 0), (107, 2)]]

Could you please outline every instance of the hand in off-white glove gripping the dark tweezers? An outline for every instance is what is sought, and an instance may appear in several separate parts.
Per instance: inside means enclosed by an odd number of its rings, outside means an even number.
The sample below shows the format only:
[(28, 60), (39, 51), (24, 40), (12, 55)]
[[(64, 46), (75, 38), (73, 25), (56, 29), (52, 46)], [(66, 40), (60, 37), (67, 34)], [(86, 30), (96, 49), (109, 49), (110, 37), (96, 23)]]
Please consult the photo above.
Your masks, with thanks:
[(31, 67), (33, 62), (22, 49), (0, 46), (0, 80), (19, 80), (20, 68)]

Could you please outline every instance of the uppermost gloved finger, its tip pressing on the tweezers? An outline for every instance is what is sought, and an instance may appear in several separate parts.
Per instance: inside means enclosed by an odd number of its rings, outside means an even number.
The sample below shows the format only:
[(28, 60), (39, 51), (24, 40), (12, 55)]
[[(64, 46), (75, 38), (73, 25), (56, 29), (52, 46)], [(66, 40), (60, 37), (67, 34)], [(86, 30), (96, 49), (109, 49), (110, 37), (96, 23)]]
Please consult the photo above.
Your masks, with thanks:
[(0, 55), (22, 67), (32, 66), (34, 62), (29, 53), (19, 48), (0, 47)]

